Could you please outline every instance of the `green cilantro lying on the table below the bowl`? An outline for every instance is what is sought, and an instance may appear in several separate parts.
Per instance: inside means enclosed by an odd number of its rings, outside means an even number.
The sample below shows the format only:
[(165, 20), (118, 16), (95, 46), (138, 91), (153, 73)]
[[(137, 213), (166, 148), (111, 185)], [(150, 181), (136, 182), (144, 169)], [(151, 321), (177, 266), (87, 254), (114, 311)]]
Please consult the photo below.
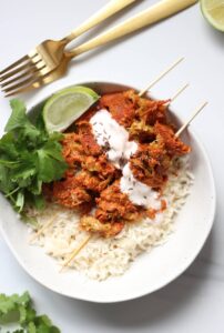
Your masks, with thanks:
[(11, 333), (60, 333), (48, 315), (37, 315), (28, 292), (10, 296), (0, 294), (0, 327), (11, 323), (20, 325)]

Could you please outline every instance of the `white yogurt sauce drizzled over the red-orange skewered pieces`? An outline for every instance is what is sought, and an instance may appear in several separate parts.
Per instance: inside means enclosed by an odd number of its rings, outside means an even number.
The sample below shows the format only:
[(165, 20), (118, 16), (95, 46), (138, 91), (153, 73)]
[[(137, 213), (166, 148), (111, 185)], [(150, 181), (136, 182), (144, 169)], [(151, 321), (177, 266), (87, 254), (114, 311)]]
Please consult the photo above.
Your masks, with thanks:
[(129, 159), (138, 150), (134, 141), (129, 141), (129, 132), (120, 125), (108, 110), (98, 111), (91, 119), (94, 138), (99, 145), (106, 148), (106, 155), (118, 169), (122, 170), (120, 189), (129, 195), (132, 203), (145, 208), (160, 209), (157, 192), (138, 181), (130, 167)]

